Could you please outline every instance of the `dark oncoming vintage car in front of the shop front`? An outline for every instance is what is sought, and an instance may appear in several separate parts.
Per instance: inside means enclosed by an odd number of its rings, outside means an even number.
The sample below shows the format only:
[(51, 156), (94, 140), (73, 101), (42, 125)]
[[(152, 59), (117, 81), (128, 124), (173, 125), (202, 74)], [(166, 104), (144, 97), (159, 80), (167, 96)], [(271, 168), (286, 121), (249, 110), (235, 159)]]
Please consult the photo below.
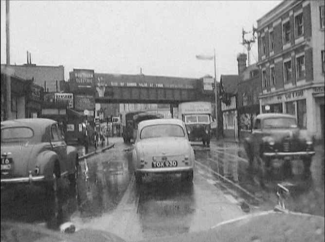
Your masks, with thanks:
[(305, 174), (310, 172), (315, 155), (312, 138), (307, 130), (299, 129), (296, 118), (289, 114), (267, 113), (256, 116), (251, 136), (245, 138), (244, 147), (250, 167), (258, 163), (270, 171), (272, 159), (285, 161), (302, 159)]

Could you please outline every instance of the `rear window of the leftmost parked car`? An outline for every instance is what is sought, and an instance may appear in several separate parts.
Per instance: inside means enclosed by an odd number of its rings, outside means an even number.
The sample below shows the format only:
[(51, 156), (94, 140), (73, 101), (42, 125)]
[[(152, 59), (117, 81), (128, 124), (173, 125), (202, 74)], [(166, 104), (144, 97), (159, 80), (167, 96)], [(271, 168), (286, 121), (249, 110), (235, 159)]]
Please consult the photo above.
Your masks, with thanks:
[(10, 127), (1, 129), (1, 143), (28, 141), (32, 139), (34, 132), (28, 127)]

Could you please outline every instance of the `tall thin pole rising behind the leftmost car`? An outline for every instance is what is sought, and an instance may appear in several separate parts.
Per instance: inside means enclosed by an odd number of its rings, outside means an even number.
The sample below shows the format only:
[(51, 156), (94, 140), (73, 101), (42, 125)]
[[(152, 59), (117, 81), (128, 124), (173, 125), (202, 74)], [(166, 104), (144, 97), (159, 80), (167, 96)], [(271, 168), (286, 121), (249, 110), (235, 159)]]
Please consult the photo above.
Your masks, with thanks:
[[(7, 68), (10, 65), (10, 32), (9, 32), (9, 0), (6, 0), (6, 55)], [(6, 119), (11, 120), (11, 79), (10, 73), (6, 75)]]

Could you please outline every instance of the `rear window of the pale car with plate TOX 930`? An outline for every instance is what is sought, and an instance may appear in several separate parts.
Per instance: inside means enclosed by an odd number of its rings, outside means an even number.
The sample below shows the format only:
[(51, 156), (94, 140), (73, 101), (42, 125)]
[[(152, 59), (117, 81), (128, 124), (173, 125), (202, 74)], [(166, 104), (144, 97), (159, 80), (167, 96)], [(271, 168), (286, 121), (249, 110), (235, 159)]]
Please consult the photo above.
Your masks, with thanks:
[(141, 130), (140, 138), (185, 137), (183, 128), (177, 124), (156, 124)]

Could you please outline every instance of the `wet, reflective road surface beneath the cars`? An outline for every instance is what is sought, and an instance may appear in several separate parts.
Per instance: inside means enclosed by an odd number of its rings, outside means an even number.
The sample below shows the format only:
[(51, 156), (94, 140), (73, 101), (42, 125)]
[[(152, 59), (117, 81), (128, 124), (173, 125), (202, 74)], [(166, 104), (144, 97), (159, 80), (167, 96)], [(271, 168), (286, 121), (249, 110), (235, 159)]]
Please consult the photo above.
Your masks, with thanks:
[[(289, 176), (281, 162), (260, 180), (257, 168), (248, 172), (245, 152), (238, 144), (211, 143), (195, 147), (193, 184), (178, 176), (149, 177), (137, 186), (131, 167), (132, 145), (114, 138), (114, 148), (82, 160), (77, 187), (60, 179), (57, 200), (41, 188), (1, 190), (1, 221), (27, 222), (57, 230), (71, 221), (77, 229), (111, 232), (126, 241), (207, 230), (247, 213), (273, 209), (275, 187), (286, 183), (287, 207), (324, 216), (324, 151), (314, 156), (311, 177), (292, 162)], [(261, 182), (262, 181), (262, 182)]]

